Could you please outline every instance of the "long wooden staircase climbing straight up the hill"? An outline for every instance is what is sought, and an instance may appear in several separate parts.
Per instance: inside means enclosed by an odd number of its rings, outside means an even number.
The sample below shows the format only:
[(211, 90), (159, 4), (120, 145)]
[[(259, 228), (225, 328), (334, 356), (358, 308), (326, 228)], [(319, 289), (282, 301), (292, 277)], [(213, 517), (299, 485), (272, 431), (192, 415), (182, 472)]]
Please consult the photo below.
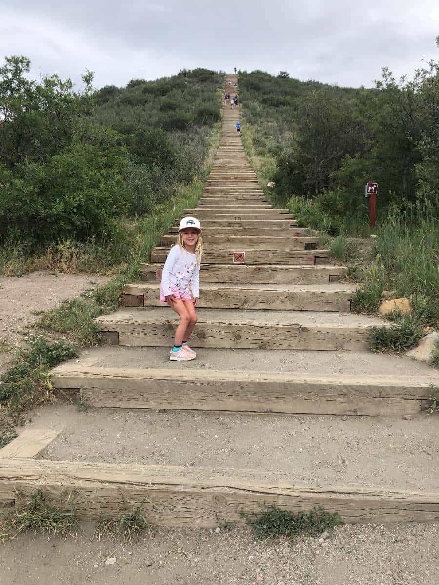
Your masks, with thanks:
[[(237, 77), (227, 78), (233, 87)], [(239, 110), (224, 106), (221, 143), (203, 198), (196, 208), (184, 210), (184, 215), (200, 219), (204, 238), (200, 308), (190, 339), (190, 345), (199, 348), (197, 359), (171, 363), (165, 349), (172, 346), (177, 316), (159, 304), (159, 281), (176, 239), (176, 219), (160, 246), (151, 250), (150, 263), (142, 265), (142, 281), (125, 285), (124, 307), (95, 319), (102, 339), (121, 346), (115, 348), (112, 363), (63, 364), (52, 370), (54, 387), (80, 389), (84, 401), (100, 408), (366, 416), (419, 412), (430, 398), (432, 383), (439, 384), (437, 376), (413, 376), (407, 370), (393, 376), (373, 370), (366, 375), (334, 374), (330, 364), (316, 371), (312, 359), (307, 374), (294, 371), (291, 352), (306, 362), (315, 355), (313, 350), (331, 356), (339, 350), (361, 363), (358, 352), (368, 349), (371, 326), (386, 324), (351, 314), (355, 287), (342, 282), (346, 268), (331, 265), (328, 250), (318, 249), (318, 239), (308, 228), (298, 227), (288, 209), (276, 209), (267, 201), (236, 136), (239, 118)], [(125, 352), (135, 352), (135, 346), (145, 350), (141, 367), (125, 361)], [(155, 347), (163, 347), (163, 360), (159, 367), (150, 367), (148, 352)], [(242, 361), (239, 370), (227, 367), (231, 351)], [(203, 360), (212, 356), (215, 363), (224, 356), (224, 365), (205, 369)], [(279, 367), (273, 369), (272, 362)], [(163, 526), (212, 526), (218, 515), (239, 520), (239, 510), (258, 510), (256, 503), (262, 500), (290, 510), (321, 504), (349, 522), (439, 517), (438, 494), (357, 485), (297, 486), (283, 474), (249, 469), (32, 465), (30, 471), (20, 462), (9, 465), (13, 485), (29, 491), (20, 474), (32, 472), (39, 484), (54, 486), (54, 493), (76, 490), (81, 515), (89, 518), (102, 509), (116, 513), (122, 500), (142, 505), (150, 521)]]

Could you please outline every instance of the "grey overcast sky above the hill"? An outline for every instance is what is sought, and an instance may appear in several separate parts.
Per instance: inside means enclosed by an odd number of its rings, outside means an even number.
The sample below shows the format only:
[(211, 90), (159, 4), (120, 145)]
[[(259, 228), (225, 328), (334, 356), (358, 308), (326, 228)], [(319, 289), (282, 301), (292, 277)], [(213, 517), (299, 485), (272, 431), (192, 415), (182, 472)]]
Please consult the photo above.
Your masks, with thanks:
[(182, 68), (234, 67), (372, 87), (382, 66), (411, 74), (438, 59), (437, 0), (0, 0), (0, 58), (35, 77), (123, 86)]

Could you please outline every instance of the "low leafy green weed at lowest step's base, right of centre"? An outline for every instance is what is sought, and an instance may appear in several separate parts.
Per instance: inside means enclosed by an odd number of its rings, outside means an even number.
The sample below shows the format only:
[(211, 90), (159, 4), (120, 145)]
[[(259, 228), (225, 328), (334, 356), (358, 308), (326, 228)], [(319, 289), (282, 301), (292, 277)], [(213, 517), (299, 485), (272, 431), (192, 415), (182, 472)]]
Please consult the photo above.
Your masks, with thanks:
[(313, 508), (310, 512), (291, 512), (281, 510), (276, 504), (258, 503), (260, 514), (246, 514), (241, 517), (255, 530), (259, 538), (293, 538), (299, 534), (317, 536), (331, 530), (338, 524), (344, 524), (338, 513), (330, 514), (323, 507)]

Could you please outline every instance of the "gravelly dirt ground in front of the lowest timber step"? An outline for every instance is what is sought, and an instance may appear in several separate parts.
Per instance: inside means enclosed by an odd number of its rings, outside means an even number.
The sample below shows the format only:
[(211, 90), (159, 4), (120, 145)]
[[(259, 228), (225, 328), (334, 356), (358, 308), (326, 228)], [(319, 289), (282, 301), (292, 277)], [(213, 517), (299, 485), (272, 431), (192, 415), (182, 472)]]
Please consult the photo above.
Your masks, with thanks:
[[(436, 585), (435, 524), (337, 527), (317, 538), (255, 541), (249, 528), (154, 529), (118, 545), (85, 535), (66, 541), (23, 536), (2, 546), (2, 585)], [(114, 556), (113, 565), (105, 559)], [(257, 577), (258, 576), (258, 577)]]

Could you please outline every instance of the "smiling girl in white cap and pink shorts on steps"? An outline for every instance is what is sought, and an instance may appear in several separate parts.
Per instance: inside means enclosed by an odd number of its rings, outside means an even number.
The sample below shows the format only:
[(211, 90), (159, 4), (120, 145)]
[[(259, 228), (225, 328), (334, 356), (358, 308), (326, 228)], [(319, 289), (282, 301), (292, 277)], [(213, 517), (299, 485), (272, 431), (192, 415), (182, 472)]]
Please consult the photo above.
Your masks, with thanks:
[(197, 322), (195, 308), (198, 304), (202, 256), (200, 222), (195, 218), (183, 218), (177, 243), (171, 248), (164, 263), (160, 285), (160, 302), (167, 302), (180, 317), (174, 336), (174, 347), (169, 357), (174, 362), (188, 362), (196, 356), (187, 345), (187, 340)]

